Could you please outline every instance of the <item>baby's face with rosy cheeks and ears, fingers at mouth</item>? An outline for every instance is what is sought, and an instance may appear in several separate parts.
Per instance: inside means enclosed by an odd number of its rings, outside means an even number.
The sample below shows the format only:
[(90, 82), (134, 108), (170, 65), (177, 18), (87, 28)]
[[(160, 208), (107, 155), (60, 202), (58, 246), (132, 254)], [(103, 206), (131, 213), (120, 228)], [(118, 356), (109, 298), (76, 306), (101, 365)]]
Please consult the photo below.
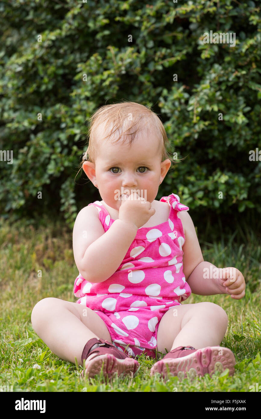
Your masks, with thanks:
[[(91, 164), (91, 163), (90, 163)], [(87, 176), (98, 185), (103, 201), (119, 211), (124, 200), (121, 195), (127, 196), (136, 190), (146, 201), (153, 202), (160, 184), (169, 167), (170, 160), (161, 162), (158, 153), (158, 140), (147, 138), (140, 134), (130, 147), (128, 142), (100, 143), (96, 158), (94, 176), (90, 171), (85, 171)]]

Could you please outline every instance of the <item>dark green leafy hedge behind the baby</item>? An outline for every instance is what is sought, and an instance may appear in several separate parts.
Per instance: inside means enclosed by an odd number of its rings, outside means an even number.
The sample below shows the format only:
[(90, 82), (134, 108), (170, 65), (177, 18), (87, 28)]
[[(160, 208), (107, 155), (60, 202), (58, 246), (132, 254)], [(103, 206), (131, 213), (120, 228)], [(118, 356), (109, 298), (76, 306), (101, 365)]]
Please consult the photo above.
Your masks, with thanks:
[[(13, 150), (13, 164), (0, 161), (3, 217), (50, 210), (71, 228), (99, 199), (77, 174), (88, 117), (121, 100), (150, 106), (168, 151), (187, 156), (156, 199), (177, 193), (201, 217), (261, 212), (249, 155), (259, 146), (261, 160), (258, 2), (16, 0), (0, 16), (0, 150)], [(210, 31), (235, 33), (235, 47), (204, 43)]]

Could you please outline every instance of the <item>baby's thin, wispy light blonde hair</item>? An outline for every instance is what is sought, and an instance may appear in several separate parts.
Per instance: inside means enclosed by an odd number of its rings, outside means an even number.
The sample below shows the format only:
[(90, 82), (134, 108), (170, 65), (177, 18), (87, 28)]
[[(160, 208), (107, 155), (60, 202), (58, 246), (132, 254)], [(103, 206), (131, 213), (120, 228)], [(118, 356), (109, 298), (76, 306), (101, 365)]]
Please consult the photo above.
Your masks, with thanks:
[[(109, 134), (103, 139), (98, 139), (96, 135), (97, 128), (104, 124), (104, 132), (108, 132), (108, 129), (111, 127)], [(136, 127), (136, 130), (133, 132), (133, 128)], [(123, 129), (125, 131), (123, 132)], [(88, 148), (85, 153), (83, 153), (83, 160), (81, 162), (81, 167), (84, 161), (90, 161), (95, 164), (97, 158), (97, 144), (98, 142), (104, 141), (107, 137), (110, 137), (114, 132), (119, 133), (118, 139), (124, 136), (124, 142), (126, 142), (126, 135), (130, 137), (130, 145), (134, 141), (136, 135), (139, 133), (140, 129), (147, 129), (147, 132), (159, 140), (159, 153), (161, 154), (161, 161), (165, 159), (171, 160), (173, 163), (178, 163), (179, 159), (173, 159), (173, 156), (168, 153), (166, 147), (168, 145), (168, 137), (165, 132), (165, 128), (160, 118), (155, 112), (151, 111), (147, 106), (144, 106), (140, 103), (124, 101), (120, 103), (114, 103), (112, 105), (104, 105), (98, 108), (89, 119), (89, 128), (88, 134), (89, 142)], [(126, 134), (129, 132), (128, 134)]]

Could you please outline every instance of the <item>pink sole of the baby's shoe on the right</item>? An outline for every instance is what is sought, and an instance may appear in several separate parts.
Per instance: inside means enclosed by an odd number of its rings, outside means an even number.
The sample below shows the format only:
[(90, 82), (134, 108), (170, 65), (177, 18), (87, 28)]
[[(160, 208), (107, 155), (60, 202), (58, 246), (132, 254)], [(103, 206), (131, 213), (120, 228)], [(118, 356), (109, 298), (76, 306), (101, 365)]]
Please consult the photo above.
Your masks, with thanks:
[[(219, 354), (220, 352), (222, 355)], [(229, 375), (233, 375), (235, 372), (234, 366), (235, 356), (230, 349), (212, 346), (198, 349), (185, 357), (160, 360), (153, 365), (150, 375), (159, 372), (164, 378), (171, 374), (181, 380), (183, 378), (193, 379), (204, 374), (212, 376), (214, 372), (223, 372), (226, 368), (229, 369)]]

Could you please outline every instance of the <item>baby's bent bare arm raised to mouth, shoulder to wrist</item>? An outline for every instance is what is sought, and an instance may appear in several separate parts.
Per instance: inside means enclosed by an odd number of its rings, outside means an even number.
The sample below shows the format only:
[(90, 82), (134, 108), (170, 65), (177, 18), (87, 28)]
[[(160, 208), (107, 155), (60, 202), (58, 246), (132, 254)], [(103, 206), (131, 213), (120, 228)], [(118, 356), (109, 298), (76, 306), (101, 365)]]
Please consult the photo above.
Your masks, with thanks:
[(103, 282), (119, 268), (138, 228), (131, 222), (115, 220), (104, 232), (97, 209), (81, 209), (73, 228), (73, 253), (76, 266), (86, 281)]

